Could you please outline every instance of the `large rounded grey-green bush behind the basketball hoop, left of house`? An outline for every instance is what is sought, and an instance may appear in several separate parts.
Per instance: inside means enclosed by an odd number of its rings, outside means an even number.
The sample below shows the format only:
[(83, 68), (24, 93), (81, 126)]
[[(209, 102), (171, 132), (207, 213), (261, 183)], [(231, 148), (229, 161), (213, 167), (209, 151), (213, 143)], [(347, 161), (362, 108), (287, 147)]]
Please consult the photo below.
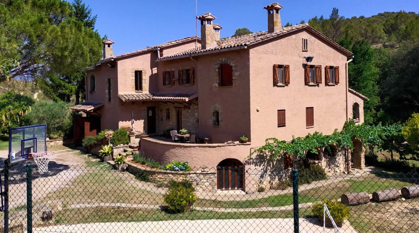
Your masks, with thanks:
[(38, 101), (32, 106), (28, 117), (32, 124), (47, 124), (47, 137), (50, 139), (62, 138), (72, 132), (71, 105), (65, 102)]

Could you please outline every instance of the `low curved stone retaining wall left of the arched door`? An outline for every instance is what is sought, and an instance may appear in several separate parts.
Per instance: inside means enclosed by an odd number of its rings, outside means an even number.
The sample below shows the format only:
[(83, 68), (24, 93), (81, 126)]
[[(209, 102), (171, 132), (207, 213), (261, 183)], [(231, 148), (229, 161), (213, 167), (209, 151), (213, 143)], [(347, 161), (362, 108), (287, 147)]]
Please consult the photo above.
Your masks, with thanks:
[(202, 168), (199, 171), (164, 171), (156, 168), (145, 168), (137, 166), (134, 163), (125, 162), (129, 171), (146, 172), (151, 182), (163, 182), (168, 184), (170, 180), (190, 181), (197, 192), (216, 192), (217, 191), (217, 173)]

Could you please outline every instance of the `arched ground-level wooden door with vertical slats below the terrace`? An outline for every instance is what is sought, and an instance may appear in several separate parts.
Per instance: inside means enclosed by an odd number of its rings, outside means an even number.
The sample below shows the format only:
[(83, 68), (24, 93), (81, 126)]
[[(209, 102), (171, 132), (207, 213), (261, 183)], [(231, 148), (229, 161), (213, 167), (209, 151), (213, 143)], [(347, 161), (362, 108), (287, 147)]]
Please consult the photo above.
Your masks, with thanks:
[(244, 188), (243, 163), (227, 158), (217, 165), (217, 189), (232, 190)]

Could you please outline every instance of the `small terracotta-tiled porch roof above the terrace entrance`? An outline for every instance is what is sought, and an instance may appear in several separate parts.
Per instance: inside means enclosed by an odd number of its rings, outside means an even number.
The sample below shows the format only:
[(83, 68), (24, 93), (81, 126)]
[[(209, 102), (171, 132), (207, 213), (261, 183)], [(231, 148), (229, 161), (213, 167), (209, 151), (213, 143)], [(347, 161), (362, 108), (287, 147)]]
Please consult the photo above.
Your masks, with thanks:
[(125, 92), (119, 93), (118, 97), (122, 101), (147, 101), (147, 100), (167, 100), (167, 101), (187, 101), (196, 93), (148, 93), (148, 92)]

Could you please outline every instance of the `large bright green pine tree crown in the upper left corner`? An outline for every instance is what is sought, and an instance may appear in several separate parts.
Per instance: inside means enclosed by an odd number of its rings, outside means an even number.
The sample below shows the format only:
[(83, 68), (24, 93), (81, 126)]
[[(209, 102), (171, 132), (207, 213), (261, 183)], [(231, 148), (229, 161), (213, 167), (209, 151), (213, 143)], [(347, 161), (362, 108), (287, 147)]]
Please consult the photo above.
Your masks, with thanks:
[[(100, 60), (101, 47), (100, 35), (75, 17), (70, 3), (62, 0), (0, 3), (0, 58), (17, 61), (9, 78), (39, 78), (48, 82), (51, 75), (74, 75)], [(2, 80), (6, 78), (2, 75)]]

